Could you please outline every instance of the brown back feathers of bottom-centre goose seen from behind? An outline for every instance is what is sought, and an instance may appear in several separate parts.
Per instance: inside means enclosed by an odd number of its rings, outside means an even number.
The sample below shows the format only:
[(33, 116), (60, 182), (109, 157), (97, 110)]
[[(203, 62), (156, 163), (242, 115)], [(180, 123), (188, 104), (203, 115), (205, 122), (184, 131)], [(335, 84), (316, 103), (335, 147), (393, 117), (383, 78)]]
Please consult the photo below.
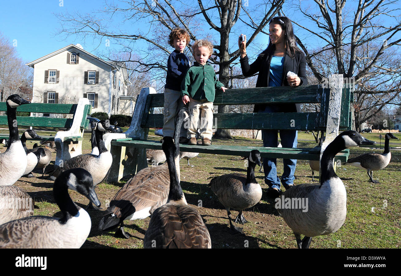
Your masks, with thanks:
[(144, 247), (153, 244), (156, 248), (211, 248), (211, 239), (196, 209), (166, 204), (154, 211), (146, 231)]

